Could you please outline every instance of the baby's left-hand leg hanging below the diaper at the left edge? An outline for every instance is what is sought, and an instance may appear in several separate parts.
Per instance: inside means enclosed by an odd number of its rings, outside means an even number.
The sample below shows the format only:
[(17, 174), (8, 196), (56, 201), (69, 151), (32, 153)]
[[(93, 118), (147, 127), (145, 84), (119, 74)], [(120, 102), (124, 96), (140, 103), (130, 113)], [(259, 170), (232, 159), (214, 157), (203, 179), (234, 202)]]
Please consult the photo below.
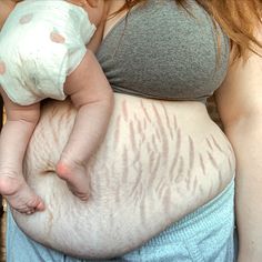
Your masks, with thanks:
[(29, 188), (22, 174), (24, 151), (39, 119), (39, 104), (14, 104), (0, 90), (7, 111), (0, 137), (0, 193), (14, 210), (31, 214), (44, 209), (42, 200)]

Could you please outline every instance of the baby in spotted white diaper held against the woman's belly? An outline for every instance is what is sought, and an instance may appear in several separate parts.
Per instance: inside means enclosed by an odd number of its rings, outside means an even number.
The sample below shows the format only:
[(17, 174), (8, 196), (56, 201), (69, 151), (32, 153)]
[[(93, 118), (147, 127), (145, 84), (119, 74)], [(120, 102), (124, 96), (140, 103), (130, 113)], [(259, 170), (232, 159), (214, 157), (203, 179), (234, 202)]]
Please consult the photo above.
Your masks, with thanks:
[[(101, 28), (105, 6), (104, 0), (0, 1), (0, 92), (7, 112), (0, 137), (0, 193), (21, 213), (44, 210), (23, 178), (22, 161), (46, 98), (70, 95), (78, 110), (56, 168), (74, 195), (89, 198), (87, 163), (113, 108), (111, 87), (85, 48)], [(95, 42), (98, 38), (95, 33)]]

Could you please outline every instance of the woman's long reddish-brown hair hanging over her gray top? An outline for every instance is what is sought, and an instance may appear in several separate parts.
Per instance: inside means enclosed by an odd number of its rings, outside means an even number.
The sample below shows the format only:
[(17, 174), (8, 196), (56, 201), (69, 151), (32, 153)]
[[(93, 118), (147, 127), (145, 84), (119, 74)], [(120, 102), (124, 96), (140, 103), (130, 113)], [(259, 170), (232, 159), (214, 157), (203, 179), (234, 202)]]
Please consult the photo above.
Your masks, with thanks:
[[(120, 12), (150, 0), (125, 0)], [(262, 42), (255, 37), (255, 29), (261, 27), (261, 0), (195, 0), (216, 21), (231, 40), (235, 57), (251, 50), (262, 56)], [(187, 0), (174, 0), (187, 9)]]

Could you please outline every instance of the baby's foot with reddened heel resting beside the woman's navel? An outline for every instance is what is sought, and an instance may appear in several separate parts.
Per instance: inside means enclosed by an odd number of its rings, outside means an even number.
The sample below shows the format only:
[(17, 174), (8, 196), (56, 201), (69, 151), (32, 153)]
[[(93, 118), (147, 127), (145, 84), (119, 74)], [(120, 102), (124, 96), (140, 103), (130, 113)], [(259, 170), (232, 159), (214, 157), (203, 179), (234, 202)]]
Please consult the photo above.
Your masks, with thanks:
[(85, 165), (60, 160), (57, 164), (57, 173), (59, 178), (67, 181), (68, 188), (75, 196), (82, 201), (89, 199), (90, 185)]

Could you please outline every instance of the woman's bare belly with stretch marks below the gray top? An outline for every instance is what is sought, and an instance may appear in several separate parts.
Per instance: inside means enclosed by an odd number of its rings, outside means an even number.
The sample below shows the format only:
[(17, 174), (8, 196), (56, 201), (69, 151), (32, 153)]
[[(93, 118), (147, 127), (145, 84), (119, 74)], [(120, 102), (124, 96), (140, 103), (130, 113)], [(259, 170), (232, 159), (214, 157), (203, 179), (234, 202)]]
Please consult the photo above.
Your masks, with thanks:
[(43, 108), (24, 170), (48, 209), (14, 213), (30, 236), (63, 252), (104, 258), (135, 249), (209, 202), (234, 175), (231, 145), (202, 102), (115, 94), (107, 137), (90, 162), (91, 199), (83, 203), (54, 174), (74, 117), (68, 103)]

